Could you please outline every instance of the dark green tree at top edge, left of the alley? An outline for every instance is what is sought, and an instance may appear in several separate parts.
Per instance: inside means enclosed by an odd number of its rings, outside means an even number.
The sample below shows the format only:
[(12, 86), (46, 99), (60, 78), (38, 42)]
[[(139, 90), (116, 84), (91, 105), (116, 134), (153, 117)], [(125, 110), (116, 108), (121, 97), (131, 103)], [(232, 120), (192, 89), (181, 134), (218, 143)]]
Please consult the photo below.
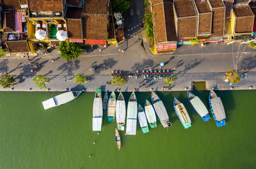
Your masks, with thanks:
[(120, 12), (122, 13), (123, 16), (127, 14), (127, 11), (129, 10), (132, 4), (127, 0), (113, 0), (111, 1), (111, 3), (112, 3), (113, 12), (114, 13)]

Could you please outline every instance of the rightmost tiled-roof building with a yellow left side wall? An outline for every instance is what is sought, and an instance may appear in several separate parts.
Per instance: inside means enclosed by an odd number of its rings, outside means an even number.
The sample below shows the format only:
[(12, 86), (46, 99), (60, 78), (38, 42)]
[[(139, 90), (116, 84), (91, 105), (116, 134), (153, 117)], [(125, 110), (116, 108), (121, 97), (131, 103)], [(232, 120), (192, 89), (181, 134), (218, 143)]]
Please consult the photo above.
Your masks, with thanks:
[(255, 15), (248, 4), (235, 4), (231, 11), (232, 34), (252, 34)]

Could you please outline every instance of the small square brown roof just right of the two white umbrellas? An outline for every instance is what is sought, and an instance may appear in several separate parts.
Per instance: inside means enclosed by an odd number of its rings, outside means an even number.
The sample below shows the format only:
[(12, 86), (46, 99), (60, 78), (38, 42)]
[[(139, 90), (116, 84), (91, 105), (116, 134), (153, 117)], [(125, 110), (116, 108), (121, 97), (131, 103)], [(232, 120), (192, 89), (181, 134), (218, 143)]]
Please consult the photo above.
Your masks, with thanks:
[(68, 38), (83, 39), (83, 29), (81, 19), (67, 18)]

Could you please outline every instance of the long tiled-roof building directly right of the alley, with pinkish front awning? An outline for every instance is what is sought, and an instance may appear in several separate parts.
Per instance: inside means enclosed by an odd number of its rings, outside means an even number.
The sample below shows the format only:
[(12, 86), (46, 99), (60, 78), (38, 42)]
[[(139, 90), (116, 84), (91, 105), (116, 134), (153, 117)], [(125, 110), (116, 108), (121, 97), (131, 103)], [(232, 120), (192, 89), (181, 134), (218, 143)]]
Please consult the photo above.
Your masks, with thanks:
[(175, 33), (173, 3), (152, 1), (155, 45), (157, 53), (176, 50), (177, 36)]

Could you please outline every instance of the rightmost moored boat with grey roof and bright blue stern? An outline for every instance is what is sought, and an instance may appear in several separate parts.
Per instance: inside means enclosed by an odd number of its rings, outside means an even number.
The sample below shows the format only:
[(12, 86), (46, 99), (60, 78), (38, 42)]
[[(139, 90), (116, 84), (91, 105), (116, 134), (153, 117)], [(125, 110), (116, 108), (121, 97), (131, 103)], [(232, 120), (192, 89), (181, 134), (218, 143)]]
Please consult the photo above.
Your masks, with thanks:
[(226, 114), (221, 102), (220, 97), (214, 91), (210, 91), (209, 94), (209, 105), (211, 108), (212, 116), (218, 127), (225, 126)]

